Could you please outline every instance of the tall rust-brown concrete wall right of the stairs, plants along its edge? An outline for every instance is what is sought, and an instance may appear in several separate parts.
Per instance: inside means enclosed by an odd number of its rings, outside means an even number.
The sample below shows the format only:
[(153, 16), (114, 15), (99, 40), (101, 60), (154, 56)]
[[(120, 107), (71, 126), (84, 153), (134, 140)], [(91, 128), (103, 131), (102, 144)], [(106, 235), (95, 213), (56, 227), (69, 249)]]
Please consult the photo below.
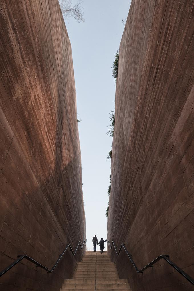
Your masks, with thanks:
[[(194, 1), (133, 0), (122, 36), (115, 97), (108, 239), (139, 269), (169, 254), (194, 277)], [(137, 274), (133, 291), (193, 286), (164, 261)]]

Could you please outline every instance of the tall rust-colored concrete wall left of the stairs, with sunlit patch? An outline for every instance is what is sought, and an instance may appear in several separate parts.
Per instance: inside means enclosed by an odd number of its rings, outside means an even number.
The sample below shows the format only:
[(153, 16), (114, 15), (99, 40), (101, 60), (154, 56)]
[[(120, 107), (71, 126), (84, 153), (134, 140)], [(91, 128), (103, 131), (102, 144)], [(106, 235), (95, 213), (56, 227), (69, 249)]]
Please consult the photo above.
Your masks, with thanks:
[[(0, 270), (51, 268), (86, 235), (71, 45), (57, 0), (2, 0), (0, 24)], [(0, 290), (58, 291), (83, 251), (52, 274), (23, 260)]]

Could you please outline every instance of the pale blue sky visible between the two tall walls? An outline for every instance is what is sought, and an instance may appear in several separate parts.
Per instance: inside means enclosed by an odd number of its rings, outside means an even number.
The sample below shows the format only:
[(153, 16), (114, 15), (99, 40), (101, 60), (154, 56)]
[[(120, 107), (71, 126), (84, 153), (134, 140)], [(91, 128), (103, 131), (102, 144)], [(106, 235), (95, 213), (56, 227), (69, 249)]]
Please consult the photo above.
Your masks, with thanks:
[[(76, 2), (73, 0), (72, 4)], [(111, 162), (106, 157), (111, 150), (112, 137), (106, 133), (115, 100), (112, 65), (129, 2), (85, 0), (82, 4), (85, 22), (77, 23), (74, 18), (65, 20), (72, 46), (78, 119), (82, 120), (78, 127), (88, 250), (93, 250), (95, 234), (98, 240), (107, 238), (105, 213)]]

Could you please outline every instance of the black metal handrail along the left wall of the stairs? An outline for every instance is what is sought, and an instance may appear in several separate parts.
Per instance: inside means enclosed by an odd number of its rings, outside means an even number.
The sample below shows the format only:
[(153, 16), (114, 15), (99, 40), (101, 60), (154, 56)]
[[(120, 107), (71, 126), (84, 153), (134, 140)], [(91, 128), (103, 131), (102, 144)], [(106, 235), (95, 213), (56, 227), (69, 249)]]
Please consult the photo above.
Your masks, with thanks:
[(62, 254), (59, 255), (58, 260), (56, 261), (56, 263), (54, 264), (54, 266), (51, 269), (48, 269), (47, 267), (41, 265), (39, 262), (35, 261), (34, 259), (30, 258), (28, 255), (18, 255), (18, 259), (15, 260), (11, 265), (9, 265), (7, 268), (5, 268), (3, 271), (0, 272), (0, 277), (3, 276), (6, 272), (8, 272), (11, 268), (13, 268), (15, 265), (17, 265), (17, 263), (19, 263), (21, 260), (26, 259), (29, 260), (30, 262), (32, 262), (33, 264), (36, 265), (36, 267), (40, 267), (42, 269), (44, 269), (45, 271), (47, 271), (48, 273), (52, 273), (53, 270), (55, 269), (55, 267), (58, 265), (59, 261), (61, 260), (61, 258), (63, 257), (64, 253), (67, 251), (68, 248), (70, 248), (70, 251), (72, 252), (72, 255), (76, 254), (76, 251), (79, 247), (79, 245), (81, 246), (81, 249), (83, 249), (83, 245), (86, 246), (86, 242), (87, 239), (85, 241), (85, 239), (83, 240), (83, 244), (81, 245), (81, 242), (79, 241), (75, 252), (73, 251), (72, 247), (70, 246), (70, 244), (67, 244), (65, 250), (63, 251)]

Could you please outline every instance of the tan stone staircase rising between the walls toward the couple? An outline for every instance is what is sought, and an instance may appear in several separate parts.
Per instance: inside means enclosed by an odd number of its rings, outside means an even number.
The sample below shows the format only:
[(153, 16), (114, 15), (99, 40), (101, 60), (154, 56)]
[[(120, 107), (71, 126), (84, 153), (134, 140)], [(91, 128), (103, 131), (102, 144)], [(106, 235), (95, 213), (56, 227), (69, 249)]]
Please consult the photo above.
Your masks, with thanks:
[(131, 290), (126, 279), (119, 279), (116, 266), (104, 251), (86, 251), (78, 262), (73, 279), (66, 279), (61, 291), (127, 291)]

